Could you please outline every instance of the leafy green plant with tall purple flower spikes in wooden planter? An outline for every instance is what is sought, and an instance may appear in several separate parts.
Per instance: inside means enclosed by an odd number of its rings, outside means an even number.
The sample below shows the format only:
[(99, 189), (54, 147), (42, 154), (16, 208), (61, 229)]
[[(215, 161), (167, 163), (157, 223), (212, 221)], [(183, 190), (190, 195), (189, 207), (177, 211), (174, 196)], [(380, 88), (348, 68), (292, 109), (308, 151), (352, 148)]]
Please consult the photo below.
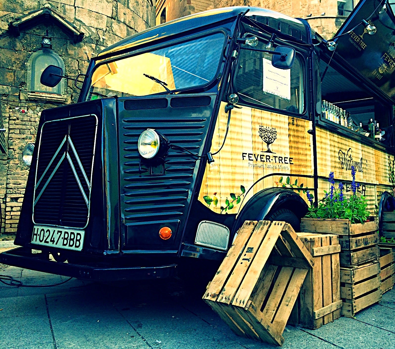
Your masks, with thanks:
[(356, 195), (359, 183), (355, 183), (355, 167), (351, 167), (351, 190), (352, 195), (349, 198), (344, 197), (344, 185), (340, 182), (338, 189), (335, 188), (334, 173), (329, 173), (329, 192), (324, 190), (324, 197), (315, 206), (312, 201), (312, 195), (306, 191), (307, 199), (310, 201), (307, 218), (329, 218), (329, 219), (348, 219), (351, 223), (364, 223), (369, 216), (367, 211), (367, 200), (365, 196)]

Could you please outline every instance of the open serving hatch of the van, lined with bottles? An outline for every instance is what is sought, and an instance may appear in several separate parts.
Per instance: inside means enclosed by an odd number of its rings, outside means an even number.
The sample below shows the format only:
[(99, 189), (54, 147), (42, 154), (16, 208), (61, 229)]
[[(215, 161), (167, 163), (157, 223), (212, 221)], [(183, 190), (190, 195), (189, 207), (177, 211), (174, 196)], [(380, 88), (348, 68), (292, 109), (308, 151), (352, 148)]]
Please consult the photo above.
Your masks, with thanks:
[[(321, 73), (326, 63), (320, 62)], [(393, 145), (393, 106), (381, 101), (362, 84), (352, 82), (329, 66), (321, 84), (321, 120), (337, 124), (339, 130)]]

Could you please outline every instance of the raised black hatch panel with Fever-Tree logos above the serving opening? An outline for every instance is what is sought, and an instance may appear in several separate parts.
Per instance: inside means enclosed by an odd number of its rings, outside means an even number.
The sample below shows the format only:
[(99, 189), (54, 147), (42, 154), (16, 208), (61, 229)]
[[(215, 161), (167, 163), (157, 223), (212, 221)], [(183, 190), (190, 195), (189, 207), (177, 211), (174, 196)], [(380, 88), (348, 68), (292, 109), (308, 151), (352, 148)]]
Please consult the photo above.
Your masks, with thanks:
[[(395, 99), (395, 17), (384, 0), (361, 0), (340, 27), (336, 53), (363, 76)], [(381, 13), (380, 13), (381, 11)], [(376, 27), (370, 35), (363, 20)], [(359, 24), (359, 25), (358, 25)], [(354, 28), (357, 26), (356, 28)]]

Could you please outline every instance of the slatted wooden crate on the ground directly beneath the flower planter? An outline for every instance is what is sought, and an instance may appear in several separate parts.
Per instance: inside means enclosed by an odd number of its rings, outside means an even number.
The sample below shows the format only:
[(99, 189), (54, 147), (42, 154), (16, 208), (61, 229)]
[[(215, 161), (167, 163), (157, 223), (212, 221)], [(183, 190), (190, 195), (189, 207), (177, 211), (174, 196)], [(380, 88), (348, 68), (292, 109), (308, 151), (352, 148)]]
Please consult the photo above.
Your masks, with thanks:
[(342, 315), (353, 317), (358, 311), (381, 300), (380, 263), (340, 267)]

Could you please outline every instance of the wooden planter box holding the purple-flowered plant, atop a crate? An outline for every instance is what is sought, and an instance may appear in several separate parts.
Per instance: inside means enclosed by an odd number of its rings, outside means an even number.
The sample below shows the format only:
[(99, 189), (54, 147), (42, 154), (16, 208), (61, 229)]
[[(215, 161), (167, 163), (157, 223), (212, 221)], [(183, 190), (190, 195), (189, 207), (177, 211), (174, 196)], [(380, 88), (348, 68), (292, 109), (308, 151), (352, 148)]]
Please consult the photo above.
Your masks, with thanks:
[(380, 255), (378, 221), (351, 224), (349, 220), (303, 218), (301, 230), (309, 233), (339, 235), (340, 266), (362, 265)]

